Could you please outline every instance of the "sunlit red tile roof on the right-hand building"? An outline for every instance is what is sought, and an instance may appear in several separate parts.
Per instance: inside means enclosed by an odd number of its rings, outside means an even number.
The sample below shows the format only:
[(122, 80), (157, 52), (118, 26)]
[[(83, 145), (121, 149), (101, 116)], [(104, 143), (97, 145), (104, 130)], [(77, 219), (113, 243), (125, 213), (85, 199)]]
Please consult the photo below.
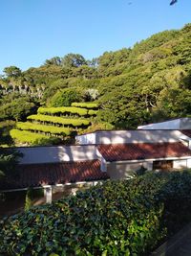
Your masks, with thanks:
[(99, 145), (98, 151), (110, 162), (191, 156), (191, 151), (180, 142)]

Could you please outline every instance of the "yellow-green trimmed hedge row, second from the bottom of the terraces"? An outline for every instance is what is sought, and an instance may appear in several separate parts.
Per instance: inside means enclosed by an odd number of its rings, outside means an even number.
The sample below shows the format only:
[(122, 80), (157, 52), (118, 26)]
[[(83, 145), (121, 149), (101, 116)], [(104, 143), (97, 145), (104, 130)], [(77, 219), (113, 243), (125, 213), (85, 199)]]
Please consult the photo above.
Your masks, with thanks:
[(67, 135), (67, 136), (69, 136), (72, 132), (70, 128), (56, 128), (52, 126), (33, 124), (30, 122), (25, 122), (25, 123), (18, 122), (16, 123), (16, 128), (24, 129), (24, 130), (39, 130), (39, 131), (49, 132), (52, 134), (61, 134), (61, 135)]

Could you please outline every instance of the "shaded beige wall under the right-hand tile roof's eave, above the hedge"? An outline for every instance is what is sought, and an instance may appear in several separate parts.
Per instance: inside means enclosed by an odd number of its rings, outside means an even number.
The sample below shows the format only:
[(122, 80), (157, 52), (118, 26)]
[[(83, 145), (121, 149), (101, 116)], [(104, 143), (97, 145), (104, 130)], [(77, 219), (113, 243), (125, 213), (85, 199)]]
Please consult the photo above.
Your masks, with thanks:
[(107, 173), (111, 179), (124, 179), (129, 178), (133, 172), (138, 171), (141, 167), (152, 171), (152, 162), (138, 162), (138, 163), (109, 163), (107, 164)]

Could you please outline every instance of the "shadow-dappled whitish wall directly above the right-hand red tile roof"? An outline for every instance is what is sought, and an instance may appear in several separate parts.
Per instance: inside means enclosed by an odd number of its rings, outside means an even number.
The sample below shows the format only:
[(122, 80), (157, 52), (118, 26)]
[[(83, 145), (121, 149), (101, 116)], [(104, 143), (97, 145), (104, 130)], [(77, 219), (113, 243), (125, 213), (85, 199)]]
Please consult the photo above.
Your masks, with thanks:
[(79, 144), (93, 144), (91, 139), (96, 136), (96, 144), (117, 144), (117, 143), (159, 143), (188, 141), (190, 138), (182, 134), (180, 130), (111, 130), (96, 131), (95, 133), (77, 136)]

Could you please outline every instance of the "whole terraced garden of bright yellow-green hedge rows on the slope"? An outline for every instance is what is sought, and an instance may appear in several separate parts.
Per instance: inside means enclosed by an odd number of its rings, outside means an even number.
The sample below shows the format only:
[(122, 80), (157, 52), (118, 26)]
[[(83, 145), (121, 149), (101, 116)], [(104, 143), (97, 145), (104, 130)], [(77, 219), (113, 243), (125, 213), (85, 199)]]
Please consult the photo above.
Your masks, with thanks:
[[(83, 104), (79, 104), (83, 105)], [(74, 142), (74, 135), (90, 127), (98, 105), (39, 107), (27, 122), (17, 122), (11, 129), (16, 145), (56, 145)]]

